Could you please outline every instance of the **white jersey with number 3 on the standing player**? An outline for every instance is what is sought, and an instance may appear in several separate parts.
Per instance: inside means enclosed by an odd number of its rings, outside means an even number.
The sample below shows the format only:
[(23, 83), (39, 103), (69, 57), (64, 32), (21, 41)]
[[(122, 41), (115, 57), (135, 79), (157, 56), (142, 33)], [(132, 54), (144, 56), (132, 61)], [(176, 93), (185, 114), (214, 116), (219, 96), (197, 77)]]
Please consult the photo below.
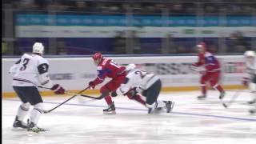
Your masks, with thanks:
[(14, 74), (13, 86), (45, 86), (51, 88), (53, 83), (48, 74), (49, 62), (37, 54), (23, 54), (10, 67), (9, 73)]

